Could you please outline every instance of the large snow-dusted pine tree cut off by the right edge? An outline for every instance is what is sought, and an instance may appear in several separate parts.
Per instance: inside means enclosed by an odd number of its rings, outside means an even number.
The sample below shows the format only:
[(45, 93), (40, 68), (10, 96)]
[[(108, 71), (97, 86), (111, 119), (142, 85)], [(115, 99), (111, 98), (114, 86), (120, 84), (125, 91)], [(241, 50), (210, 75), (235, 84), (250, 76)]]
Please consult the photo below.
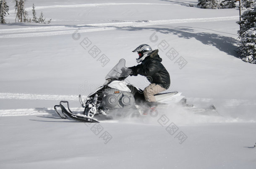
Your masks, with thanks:
[(238, 30), (240, 37), (239, 50), (240, 58), (249, 63), (256, 63), (256, 5), (241, 15), (243, 20), (237, 22), (241, 30)]

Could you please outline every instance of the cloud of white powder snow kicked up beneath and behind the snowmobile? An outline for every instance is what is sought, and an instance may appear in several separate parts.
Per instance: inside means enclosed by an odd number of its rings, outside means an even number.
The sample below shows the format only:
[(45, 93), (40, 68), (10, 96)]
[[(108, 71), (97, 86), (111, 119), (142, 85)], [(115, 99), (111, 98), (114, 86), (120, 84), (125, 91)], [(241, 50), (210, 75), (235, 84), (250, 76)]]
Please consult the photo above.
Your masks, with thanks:
[[(151, 111), (141, 116), (134, 116), (134, 114), (130, 112), (128, 116), (119, 120), (127, 123), (144, 123), (161, 126), (170, 126), (172, 124), (176, 126), (186, 126), (205, 123), (256, 122), (256, 119), (252, 119), (250, 114), (241, 114), (241, 111), (235, 112), (234, 110), (236, 109), (237, 107), (235, 106), (229, 108), (220, 106), (217, 108), (217, 110), (219, 110), (218, 113), (211, 110), (206, 113), (194, 113), (187, 107), (173, 104), (158, 106), (156, 111)], [(117, 116), (113, 118), (116, 119)]]

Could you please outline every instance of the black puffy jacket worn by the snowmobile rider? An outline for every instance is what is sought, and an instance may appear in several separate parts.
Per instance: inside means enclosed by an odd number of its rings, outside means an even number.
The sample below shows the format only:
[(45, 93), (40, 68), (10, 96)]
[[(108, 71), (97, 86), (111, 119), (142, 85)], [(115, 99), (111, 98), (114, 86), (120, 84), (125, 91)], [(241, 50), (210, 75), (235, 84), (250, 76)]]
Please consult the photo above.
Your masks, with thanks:
[(158, 55), (158, 49), (153, 50), (141, 64), (130, 67), (133, 71), (133, 76), (142, 75), (146, 76), (150, 83), (156, 83), (163, 88), (170, 87), (170, 75), (162, 65), (162, 58)]

